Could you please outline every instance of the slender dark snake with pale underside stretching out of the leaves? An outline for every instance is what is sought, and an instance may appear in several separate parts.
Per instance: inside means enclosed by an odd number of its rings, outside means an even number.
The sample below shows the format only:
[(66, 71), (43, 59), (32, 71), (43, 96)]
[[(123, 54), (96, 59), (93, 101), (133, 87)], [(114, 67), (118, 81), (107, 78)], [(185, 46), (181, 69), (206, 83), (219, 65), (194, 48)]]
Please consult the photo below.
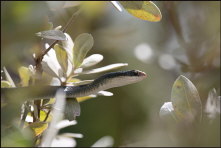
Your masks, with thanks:
[(110, 88), (137, 83), (146, 77), (146, 73), (139, 70), (110, 72), (96, 78), (89, 84), (78, 86), (33, 85), (26, 87), (1, 88), (1, 98), (11, 95), (10, 97), (14, 98), (22, 96), (20, 98), (24, 98), (23, 101), (27, 100), (27, 98), (31, 100), (49, 99), (53, 98), (59, 89), (62, 89), (65, 92), (67, 98), (84, 97)]

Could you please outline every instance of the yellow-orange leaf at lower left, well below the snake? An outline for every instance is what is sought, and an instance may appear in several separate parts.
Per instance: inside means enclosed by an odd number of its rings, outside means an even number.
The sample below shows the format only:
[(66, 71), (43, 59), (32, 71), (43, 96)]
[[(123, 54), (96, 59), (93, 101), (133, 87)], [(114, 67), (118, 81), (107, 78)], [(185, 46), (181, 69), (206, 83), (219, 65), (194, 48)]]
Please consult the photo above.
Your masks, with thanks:
[(48, 123), (46, 122), (34, 122), (29, 125), (29, 127), (34, 130), (35, 136), (42, 134), (47, 128)]

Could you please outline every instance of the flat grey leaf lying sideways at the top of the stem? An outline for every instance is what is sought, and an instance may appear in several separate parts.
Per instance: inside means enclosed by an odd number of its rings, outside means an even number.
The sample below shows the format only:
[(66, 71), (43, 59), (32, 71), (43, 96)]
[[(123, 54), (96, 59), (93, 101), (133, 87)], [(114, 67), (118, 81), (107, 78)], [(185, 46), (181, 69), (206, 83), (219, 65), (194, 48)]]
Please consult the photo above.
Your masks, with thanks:
[(67, 40), (65, 34), (61, 30), (41, 31), (41, 32), (36, 33), (36, 35), (45, 39), (52, 39), (52, 40), (59, 40), (59, 41)]

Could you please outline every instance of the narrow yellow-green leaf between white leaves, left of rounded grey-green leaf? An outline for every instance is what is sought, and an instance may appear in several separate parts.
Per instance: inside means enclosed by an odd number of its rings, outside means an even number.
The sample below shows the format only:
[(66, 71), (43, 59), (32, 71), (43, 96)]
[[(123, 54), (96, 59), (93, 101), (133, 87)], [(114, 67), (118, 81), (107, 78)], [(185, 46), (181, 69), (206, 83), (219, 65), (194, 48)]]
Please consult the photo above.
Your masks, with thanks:
[(54, 46), (54, 50), (56, 53), (56, 57), (58, 59), (59, 64), (61, 65), (62, 69), (67, 72), (68, 67), (68, 55), (65, 49), (63, 49), (60, 45), (56, 44)]

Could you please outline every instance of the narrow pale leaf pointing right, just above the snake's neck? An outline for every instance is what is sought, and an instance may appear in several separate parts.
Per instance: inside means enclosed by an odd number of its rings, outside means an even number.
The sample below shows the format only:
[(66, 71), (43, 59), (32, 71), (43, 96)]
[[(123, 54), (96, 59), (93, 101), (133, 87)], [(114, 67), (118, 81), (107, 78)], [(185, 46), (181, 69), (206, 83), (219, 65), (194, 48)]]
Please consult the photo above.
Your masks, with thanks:
[(93, 73), (105, 72), (108, 70), (113, 70), (113, 69), (121, 68), (124, 66), (128, 66), (128, 64), (127, 63), (111, 64), (111, 65), (107, 65), (107, 66), (92, 69), (92, 70), (86, 70), (86, 71), (83, 71), (81, 74), (93, 74)]

